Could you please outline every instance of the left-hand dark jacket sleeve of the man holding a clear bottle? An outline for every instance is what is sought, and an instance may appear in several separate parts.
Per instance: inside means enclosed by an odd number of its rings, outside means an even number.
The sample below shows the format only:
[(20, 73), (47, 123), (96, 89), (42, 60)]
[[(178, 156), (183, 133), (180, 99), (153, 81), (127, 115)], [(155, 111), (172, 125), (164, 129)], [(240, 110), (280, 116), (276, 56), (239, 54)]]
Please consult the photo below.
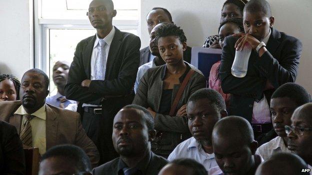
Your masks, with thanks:
[(239, 96), (261, 99), (265, 78), (254, 75), (250, 76), (248, 72), (247, 75), (242, 78), (234, 77), (231, 74), (231, 66), (235, 56), (234, 41), (233, 37), (225, 37), (222, 48), (219, 70), (222, 90), (226, 94), (236, 94)]

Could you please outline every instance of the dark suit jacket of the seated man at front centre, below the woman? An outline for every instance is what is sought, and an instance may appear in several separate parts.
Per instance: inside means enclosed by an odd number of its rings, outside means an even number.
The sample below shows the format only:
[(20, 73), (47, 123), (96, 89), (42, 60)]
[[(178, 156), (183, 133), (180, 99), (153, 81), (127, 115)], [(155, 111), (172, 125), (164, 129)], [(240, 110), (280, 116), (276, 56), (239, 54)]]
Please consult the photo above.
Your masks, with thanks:
[[(101, 165), (92, 171), (92, 175), (118, 175), (120, 158), (116, 158), (104, 165)], [(146, 169), (146, 174), (143, 175), (158, 175), (158, 172), (164, 167), (168, 161), (160, 156), (151, 153), (151, 159)], [(123, 174), (122, 174), (123, 175)]]

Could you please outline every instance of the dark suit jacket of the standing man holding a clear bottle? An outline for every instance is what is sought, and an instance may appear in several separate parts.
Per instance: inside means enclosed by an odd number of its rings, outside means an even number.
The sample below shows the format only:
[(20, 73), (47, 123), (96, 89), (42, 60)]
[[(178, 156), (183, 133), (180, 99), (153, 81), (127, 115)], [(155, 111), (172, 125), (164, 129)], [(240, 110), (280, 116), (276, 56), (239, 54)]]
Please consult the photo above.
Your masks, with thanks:
[[(267, 51), (259, 58), (252, 50), (249, 57), (247, 74), (243, 78), (231, 75), (231, 66), (235, 56), (234, 44), (238, 37), (225, 38), (220, 65), (221, 87), (224, 93), (232, 94), (228, 107), (229, 115), (244, 117), (251, 122), (252, 107), (255, 100), (268, 101), (275, 89), (287, 82), (294, 82), (301, 56), (301, 42), (285, 33), (271, 28), (266, 44)], [(266, 80), (274, 89), (264, 90)]]

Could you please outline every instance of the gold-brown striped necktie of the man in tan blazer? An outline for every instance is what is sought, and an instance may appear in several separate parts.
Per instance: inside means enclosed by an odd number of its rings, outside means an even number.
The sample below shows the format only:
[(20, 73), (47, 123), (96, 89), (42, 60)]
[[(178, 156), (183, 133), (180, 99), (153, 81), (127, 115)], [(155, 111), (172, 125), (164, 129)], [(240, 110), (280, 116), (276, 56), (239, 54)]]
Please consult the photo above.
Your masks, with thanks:
[(25, 114), (23, 116), (26, 122), (22, 125), (19, 138), (21, 143), (27, 147), (32, 147), (32, 137), (31, 137), (31, 125), (30, 120), (34, 117), (30, 114)]

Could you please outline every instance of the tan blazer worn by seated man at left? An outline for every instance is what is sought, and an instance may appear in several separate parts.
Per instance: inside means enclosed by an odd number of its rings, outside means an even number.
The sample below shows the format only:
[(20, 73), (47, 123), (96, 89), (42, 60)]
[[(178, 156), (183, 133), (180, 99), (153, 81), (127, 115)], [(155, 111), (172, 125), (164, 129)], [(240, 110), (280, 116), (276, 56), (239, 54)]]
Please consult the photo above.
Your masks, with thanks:
[[(20, 105), (20, 101), (0, 102), (0, 120), (15, 126), (18, 134), (22, 116), (14, 114), (14, 112)], [(46, 104), (45, 122), (46, 150), (61, 144), (76, 145), (87, 154), (92, 167), (97, 166), (99, 161), (98, 151), (82, 129), (78, 113)]]

